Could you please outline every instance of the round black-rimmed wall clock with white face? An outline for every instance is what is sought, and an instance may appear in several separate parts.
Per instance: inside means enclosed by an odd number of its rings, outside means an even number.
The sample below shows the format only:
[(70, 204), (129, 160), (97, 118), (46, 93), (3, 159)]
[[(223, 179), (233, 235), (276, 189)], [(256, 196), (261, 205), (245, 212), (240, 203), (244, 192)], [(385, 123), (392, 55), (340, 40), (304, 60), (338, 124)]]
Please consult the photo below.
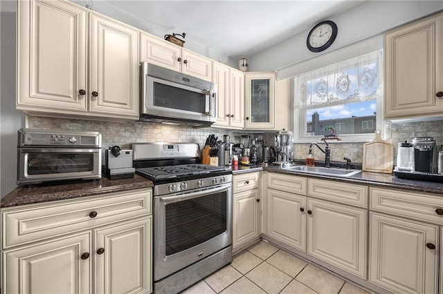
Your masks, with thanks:
[(334, 43), (337, 37), (337, 25), (334, 21), (317, 23), (307, 35), (306, 46), (312, 52), (320, 52)]

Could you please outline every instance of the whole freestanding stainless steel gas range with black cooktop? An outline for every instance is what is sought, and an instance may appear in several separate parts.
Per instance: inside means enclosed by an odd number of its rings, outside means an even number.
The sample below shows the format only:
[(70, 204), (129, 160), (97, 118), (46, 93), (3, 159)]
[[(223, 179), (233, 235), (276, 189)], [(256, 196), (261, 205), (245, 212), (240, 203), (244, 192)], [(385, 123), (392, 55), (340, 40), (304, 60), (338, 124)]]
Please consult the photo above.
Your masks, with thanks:
[(232, 260), (232, 174), (198, 144), (132, 144), (154, 182), (154, 293), (178, 293)]

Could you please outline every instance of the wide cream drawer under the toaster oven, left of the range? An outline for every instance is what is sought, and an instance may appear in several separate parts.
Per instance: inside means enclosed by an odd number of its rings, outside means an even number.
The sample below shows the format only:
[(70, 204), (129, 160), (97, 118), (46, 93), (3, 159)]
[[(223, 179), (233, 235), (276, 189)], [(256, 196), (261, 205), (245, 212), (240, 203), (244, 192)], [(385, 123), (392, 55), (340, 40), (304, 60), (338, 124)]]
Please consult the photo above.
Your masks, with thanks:
[(3, 249), (123, 219), (150, 215), (151, 206), (152, 189), (148, 188), (3, 210)]

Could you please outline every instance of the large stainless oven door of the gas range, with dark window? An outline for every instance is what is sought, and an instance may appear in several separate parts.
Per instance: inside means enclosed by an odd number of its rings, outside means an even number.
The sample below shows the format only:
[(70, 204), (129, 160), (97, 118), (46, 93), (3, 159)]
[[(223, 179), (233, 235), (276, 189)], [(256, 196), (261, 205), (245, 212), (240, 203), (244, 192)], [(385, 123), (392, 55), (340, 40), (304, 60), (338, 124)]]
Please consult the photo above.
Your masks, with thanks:
[(231, 183), (154, 197), (154, 281), (231, 244)]

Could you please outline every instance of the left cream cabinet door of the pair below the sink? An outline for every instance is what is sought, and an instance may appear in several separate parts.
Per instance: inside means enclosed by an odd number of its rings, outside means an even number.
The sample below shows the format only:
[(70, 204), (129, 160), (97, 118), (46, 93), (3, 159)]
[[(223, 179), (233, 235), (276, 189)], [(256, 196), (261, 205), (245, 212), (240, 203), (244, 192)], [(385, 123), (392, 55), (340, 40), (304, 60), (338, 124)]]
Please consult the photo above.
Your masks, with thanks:
[(300, 251), (306, 251), (306, 196), (267, 190), (267, 234)]

